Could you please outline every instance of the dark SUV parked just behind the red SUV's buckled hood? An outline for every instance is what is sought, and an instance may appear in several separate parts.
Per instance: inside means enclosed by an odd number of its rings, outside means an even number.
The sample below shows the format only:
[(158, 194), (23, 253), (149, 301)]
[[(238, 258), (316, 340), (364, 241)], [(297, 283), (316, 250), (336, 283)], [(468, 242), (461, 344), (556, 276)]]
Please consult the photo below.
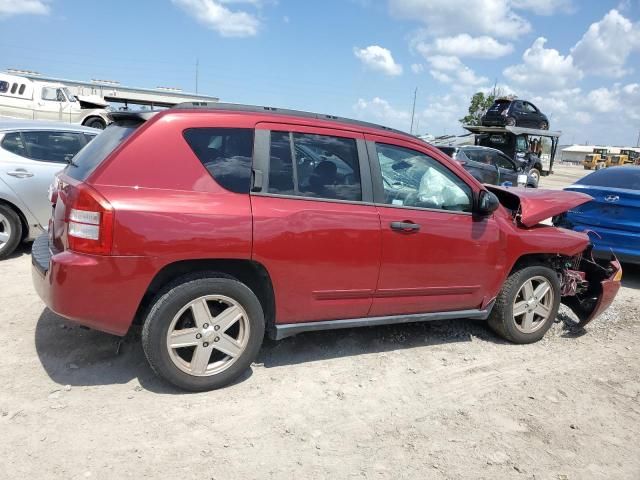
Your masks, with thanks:
[(522, 160), (516, 165), (514, 160), (511, 160), (495, 148), (473, 145), (436, 147), (454, 160), (457, 160), (466, 171), (481, 183), (515, 187), (520, 184), (518, 182), (519, 177), (523, 177), (523, 186), (538, 187), (538, 179), (528, 174), (528, 162)]

